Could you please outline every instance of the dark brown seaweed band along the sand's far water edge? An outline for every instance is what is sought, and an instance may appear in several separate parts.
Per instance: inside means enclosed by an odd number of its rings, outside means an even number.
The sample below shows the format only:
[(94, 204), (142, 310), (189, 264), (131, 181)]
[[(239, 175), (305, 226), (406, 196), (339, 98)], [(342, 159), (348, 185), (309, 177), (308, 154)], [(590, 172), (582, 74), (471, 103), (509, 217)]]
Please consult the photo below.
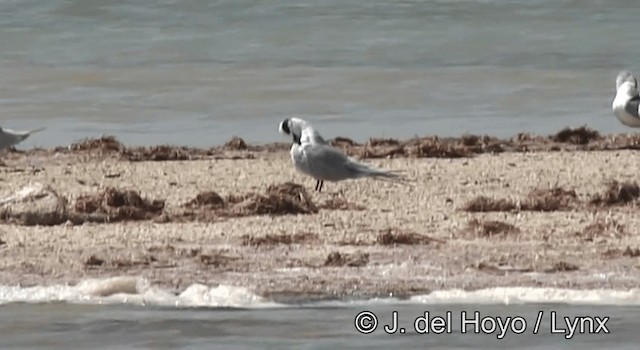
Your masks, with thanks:
[[(33, 136), (35, 137), (35, 136)], [(283, 140), (285, 138), (283, 137)], [(462, 134), (457, 137), (437, 135), (415, 136), (407, 139), (370, 137), (366, 142), (337, 136), (328, 141), (351, 156), (376, 158), (465, 158), (485, 153), (558, 152), (558, 151), (617, 151), (640, 149), (640, 134), (601, 134), (587, 126), (565, 127), (550, 135), (521, 132), (508, 138), (490, 135)], [(255, 153), (288, 151), (290, 142), (249, 144), (233, 136), (228, 141), (208, 148), (158, 144), (127, 146), (115, 136), (85, 138), (67, 146), (35, 147), (28, 150), (9, 150), (9, 154), (47, 155), (83, 154), (113, 155), (127, 161), (176, 161), (252, 157)], [(6, 151), (5, 151), (6, 152)], [(231, 153), (231, 155), (229, 155)]]

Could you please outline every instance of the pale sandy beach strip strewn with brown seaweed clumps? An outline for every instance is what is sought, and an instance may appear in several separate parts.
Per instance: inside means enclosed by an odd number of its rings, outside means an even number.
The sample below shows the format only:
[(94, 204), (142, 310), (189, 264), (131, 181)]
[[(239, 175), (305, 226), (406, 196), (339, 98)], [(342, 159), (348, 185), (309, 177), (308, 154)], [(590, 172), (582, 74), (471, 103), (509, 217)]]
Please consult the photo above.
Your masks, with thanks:
[(635, 287), (638, 142), (584, 131), (338, 139), (413, 182), (325, 183), (321, 193), (286, 144), (128, 149), (104, 139), (5, 151), (0, 196), (43, 189), (3, 207), (0, 283), (130, 275), (176, 292), (232, 284), (275, 299)]

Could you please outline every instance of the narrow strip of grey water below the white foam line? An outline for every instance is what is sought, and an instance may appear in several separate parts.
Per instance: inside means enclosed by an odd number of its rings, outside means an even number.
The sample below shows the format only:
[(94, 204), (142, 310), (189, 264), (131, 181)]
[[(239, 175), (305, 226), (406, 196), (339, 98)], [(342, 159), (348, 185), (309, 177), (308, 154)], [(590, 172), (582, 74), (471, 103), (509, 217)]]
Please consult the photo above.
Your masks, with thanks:
[[(1, 311), (3, 349), (637, 349), (640, 326), (638, 306), (388, 304), (243, 310), (22, 304), (5, 305)], [(364, 311), (379, 318), (373, 333), (356, 330), (356, 315)], [(398, 312), (398, 331), (388, 334), (384, 327), (393, 324), (393, 311)], [(416, 333), (415, 319), (424, 317), (425, 311), (430, 319), (442, 317), (444, 326), (436, 321), (430, 333)], [(483, 320), (478, 334), (475, 311)], [(447, 312), (451, 312), (450, 333)], [(565, 317), (576, 316), (601, 321), (583, 322), (586, 333), (570, 336)], [(461, 333), (463, 317), (469, 320), (465, 333)], [(499, 326), (493, 328), (498, 317), (504, 322), (508, 317), (522, 318), (503, 332)], [(604, 321), (604, 317), (610, 318)], [(424, 323), (418, 327), (423, 332)], [(432, 333), (440, 327), (444, 333)], [(488, 331), (493, 332), (483, 333)]]

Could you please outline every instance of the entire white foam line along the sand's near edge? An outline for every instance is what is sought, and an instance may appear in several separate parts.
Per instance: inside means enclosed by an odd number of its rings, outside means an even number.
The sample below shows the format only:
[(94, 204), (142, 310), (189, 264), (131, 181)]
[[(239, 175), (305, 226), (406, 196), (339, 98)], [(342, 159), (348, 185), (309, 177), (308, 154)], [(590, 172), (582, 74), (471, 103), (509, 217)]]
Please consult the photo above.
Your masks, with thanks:
[[(77, 285), (0, 286), (0, 305), (7, 303), (68, 302), (83, 304), (137, 304), (167, 307), (270, 308), (279, 304), (256, 295), (247, 288), (192, 284), (180, 294), (170, 293), (137, 277), (84, 280)], [(440, 290), (408, 299), (373, 298), (329, 301), (308, 306), (361, 306), (389, 304), (542, 304), (640, 305), (640, 289), (562, 289), (497, 287), (465, 291)]]

